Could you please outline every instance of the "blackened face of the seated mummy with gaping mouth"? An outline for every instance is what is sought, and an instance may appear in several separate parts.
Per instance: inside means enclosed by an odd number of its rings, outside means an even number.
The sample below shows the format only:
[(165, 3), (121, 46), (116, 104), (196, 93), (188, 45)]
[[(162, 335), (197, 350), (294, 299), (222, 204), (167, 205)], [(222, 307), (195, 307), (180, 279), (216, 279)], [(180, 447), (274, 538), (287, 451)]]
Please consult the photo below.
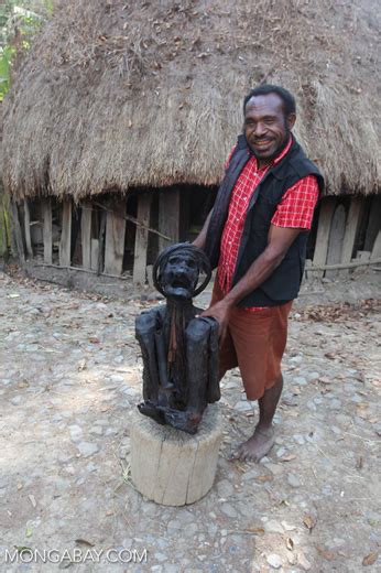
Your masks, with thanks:
[(174, 252), (161, 274), (161, 284), (166, 298), (192, 299), (198, 281), (198, 266), (188, 253)]

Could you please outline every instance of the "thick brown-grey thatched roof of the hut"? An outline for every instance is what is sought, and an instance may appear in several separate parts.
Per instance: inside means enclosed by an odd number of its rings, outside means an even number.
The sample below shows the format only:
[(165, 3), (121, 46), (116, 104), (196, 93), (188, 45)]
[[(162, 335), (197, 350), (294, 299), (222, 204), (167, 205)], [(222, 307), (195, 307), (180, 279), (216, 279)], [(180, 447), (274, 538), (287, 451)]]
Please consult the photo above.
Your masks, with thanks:
[(213, 185), (254, 85), (287, 87), (328, 193), (380, 188), (375, 0), (65, 0), (6, 104), (17, 198)]

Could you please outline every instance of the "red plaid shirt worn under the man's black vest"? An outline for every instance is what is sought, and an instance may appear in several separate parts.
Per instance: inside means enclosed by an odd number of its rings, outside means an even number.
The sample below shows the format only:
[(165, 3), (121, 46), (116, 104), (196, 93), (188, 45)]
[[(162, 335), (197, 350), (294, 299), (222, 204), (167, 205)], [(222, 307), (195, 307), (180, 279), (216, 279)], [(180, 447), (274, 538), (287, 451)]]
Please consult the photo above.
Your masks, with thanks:
[[(287, 153), (292, 144), (292, 137), (284, 150), (268, 165), (258, 166), (257, 158), (252, 155), (244, 165), (231, 193), (228, 218), (225, 224), (221, 249), (218, 262), (218, 281), (221, 290), (227, 294), (231, 289), (232, 277), (236, 269), (237, 257), (246, 214), (251, 195), (261, 182), (268, 170), (276, 165)], [(231, 152), (232, 154), (232, 152)], [(230, 156), (231, 156), (230, 154)], [(229, 164), (230, 158), (227, 165)], [(295, 183), (283, 195), (276, 207), (272, 225), (277, 227), (292, 227), (309, 229), (313, 220), (314, 208), (318, 198), (319, 190), (315, 175), (308, 175)], [(255, 207), (254, 207), (255, 208)], [(261, 307), (252, 306), (248, 311), (258, 311)]]

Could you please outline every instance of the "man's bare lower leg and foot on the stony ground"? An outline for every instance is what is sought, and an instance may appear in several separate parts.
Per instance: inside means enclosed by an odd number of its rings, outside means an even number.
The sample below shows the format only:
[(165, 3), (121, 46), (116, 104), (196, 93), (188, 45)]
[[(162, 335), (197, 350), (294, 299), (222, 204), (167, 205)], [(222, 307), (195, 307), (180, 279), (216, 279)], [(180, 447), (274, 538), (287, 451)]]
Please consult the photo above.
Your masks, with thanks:
[(259, 403), (259, 422), (253, 435), (238, 450), (239, 460), (246, 462), (259, 462), (274, 445), (274, 429), (272, 420), (280, 401), (283, 388), (283, 376), (281, 375), (274, 386), (265, 390)]

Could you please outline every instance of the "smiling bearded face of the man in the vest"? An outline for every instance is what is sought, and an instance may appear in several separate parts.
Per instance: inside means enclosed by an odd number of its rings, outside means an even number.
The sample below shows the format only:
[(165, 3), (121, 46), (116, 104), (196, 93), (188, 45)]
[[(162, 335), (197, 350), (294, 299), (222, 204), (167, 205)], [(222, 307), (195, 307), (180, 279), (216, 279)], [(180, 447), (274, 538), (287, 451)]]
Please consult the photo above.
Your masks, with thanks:
[(277, 94), (254, 96), (246, 106), (243, 130), (255, 158), (263, 163), (274, 159), (289, 141), (295, 113), (284, 116)]

